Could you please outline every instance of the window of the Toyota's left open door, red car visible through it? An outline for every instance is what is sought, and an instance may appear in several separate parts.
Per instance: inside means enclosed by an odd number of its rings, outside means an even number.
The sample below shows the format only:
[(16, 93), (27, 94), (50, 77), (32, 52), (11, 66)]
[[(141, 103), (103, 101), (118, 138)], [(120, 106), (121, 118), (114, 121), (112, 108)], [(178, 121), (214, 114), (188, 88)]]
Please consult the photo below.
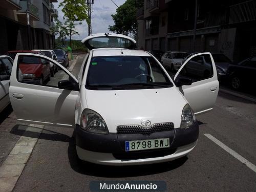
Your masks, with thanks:
[[(39, 63), (42, 63), (42, 65), (38, 65)], [(55, 88), (58, 87), (58, 82), (60, 80), (74, 81), (74, 79), (63, 70), (59, 70), (53, 74), (53, 77), (51, 77), (49, 63), (50, 61), (48, 59), (36, 56), (20, 55), (17, 62), (17, 74), (21, 73), (23, 78), (21, 79), (17, 75), (17, 80), (22, 83), (37, 84), (40, 86)], [(52, 63), (52, 65), (56, 64)]]

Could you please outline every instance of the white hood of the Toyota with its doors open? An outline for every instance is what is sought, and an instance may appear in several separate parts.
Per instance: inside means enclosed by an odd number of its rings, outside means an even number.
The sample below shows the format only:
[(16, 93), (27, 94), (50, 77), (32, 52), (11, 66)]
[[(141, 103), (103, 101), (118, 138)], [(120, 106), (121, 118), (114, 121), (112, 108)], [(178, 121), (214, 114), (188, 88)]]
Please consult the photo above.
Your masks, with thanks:
[(141, 125), (146, 119), (155, 123), (173, 122), (180, 127), (185, 99), (177, 88), (143, 90), (86, 90), (88, 108), (99, 113), (110, 133), (118, 125)]

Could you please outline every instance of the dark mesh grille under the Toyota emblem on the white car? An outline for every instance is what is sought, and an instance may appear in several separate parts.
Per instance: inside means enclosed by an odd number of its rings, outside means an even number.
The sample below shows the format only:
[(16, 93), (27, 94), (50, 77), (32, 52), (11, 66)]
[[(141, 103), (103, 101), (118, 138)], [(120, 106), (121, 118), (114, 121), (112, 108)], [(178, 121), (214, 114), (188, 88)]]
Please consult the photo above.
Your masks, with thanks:
[(150, 135), (155, 132), (172, 131), (174, 123), (156, 123), (150, 127), (142, 127), (140, 125), (119, 125), (117, 126), (117, 134), (143, 134)]

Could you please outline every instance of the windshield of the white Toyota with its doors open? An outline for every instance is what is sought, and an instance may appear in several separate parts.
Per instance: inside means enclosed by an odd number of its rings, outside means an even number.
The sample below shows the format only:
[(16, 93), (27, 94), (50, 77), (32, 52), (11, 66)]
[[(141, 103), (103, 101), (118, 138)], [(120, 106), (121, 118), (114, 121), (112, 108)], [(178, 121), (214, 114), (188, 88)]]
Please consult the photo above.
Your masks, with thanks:
[(87, 76), (87, 89), (124, 90), (172, 87), (163, 69), (151, 56), (93, 57)]

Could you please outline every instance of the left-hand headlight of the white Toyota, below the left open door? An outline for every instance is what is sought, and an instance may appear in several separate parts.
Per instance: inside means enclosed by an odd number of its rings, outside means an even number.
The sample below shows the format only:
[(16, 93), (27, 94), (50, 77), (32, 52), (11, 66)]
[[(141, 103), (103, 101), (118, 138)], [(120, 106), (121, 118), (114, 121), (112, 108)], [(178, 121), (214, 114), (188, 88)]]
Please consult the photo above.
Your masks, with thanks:
[(109, 134), (104, 119), (95, 111), (84, 109), (80, 118), (80, 126), (83, 130), (98, 134)]

